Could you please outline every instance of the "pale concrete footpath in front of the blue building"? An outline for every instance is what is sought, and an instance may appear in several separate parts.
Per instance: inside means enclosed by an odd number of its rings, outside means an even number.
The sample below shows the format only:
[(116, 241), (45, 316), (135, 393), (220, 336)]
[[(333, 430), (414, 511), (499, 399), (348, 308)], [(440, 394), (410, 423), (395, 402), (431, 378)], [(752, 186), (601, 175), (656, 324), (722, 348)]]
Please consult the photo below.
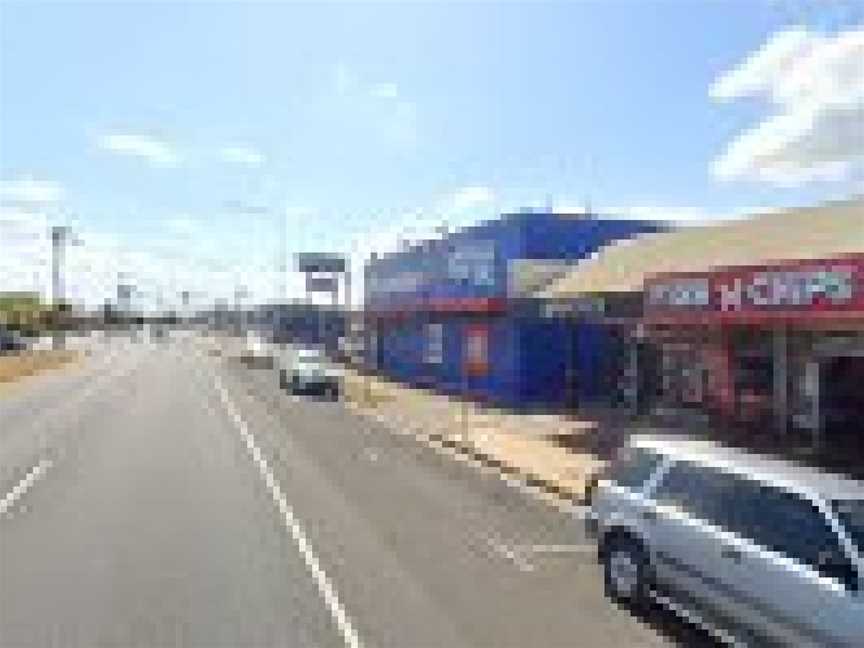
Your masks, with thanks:
[[(605, 464), (593, 448), (608, 421), (601, 426), (596, 419), (506, 412), (352, 369), (345, 370), (344, 398), (394, 430), (473, 458), (558, 500), (578, 503), (588, 478)], [(626, 436), (626, 427), (622, 422), (614, 436)]]

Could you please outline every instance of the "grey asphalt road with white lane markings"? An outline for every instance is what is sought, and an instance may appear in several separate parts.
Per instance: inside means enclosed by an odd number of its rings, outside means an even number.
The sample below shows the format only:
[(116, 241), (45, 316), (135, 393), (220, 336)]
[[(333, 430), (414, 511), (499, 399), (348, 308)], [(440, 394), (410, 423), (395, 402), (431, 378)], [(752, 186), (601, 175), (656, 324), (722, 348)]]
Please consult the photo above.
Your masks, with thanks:
[(0, 645), (689, 636), (603, 598), (574, 516), (204, 348), (104, 344), (0, 400)]

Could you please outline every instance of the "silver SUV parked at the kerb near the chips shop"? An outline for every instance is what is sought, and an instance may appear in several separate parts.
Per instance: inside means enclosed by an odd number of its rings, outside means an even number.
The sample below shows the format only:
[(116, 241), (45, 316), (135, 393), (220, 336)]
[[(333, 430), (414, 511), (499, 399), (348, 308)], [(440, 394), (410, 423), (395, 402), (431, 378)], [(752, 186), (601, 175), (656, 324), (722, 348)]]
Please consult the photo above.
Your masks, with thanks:
[(710, 441), (633, 437), (591, 490), (607, 595), (750, 646), (864, 646), (864, 484)]

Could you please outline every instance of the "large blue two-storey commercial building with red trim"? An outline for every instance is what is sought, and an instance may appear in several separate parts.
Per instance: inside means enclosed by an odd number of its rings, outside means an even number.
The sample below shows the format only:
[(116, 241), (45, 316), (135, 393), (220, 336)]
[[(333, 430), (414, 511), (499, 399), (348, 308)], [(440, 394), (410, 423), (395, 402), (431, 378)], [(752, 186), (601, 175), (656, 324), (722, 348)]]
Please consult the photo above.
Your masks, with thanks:
[(366, 361), (417, 386), (499, 405), (566, 405), (603, 389), (608, 333), (541, 316), (533, 292), (644, 221), (538, 212), (373, 258)]

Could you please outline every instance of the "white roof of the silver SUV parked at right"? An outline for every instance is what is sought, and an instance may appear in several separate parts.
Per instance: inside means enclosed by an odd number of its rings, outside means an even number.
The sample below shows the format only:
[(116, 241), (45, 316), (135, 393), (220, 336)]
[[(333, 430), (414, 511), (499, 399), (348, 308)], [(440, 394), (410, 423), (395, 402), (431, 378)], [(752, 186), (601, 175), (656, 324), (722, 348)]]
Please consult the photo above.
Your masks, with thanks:
[(730, 472), (784, 486), (792, 491), (810, 492), (824, 499), (864, 499), (864, 484), (854, 479), (722, 445), (716, 441), (656, 433), (634, 435), (629, 443), (634, 447), (654, 450), (672, 459), (689, 459), (725, 468)]

